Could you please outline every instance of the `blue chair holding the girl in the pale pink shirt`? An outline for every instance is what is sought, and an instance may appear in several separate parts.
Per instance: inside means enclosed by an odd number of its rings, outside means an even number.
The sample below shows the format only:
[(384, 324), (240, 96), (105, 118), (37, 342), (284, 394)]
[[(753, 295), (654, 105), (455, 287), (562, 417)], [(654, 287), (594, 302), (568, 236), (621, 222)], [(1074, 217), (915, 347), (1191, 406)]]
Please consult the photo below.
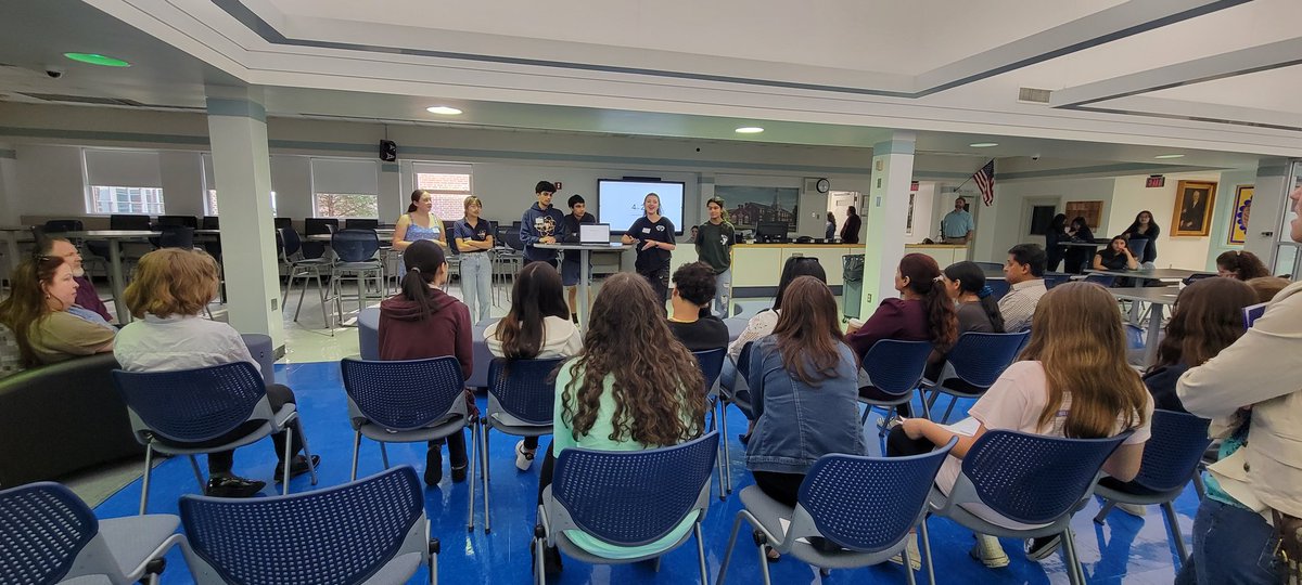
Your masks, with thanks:
[[(1068, 580), (1085, 584), (1075, 554), (1072, 515), (1085, 507), (1099, 481), (1103, 463), (1130, 433), (1111, 438), (1072, 439), (987, 430), (967, 455), (949, 495), (932, 490), (931, 508), (973, 532), (1000, 538), (1038, 538), (1061, 534)], [(970, 511), (982, 504), (1012, 523), (1008, 528)]]

